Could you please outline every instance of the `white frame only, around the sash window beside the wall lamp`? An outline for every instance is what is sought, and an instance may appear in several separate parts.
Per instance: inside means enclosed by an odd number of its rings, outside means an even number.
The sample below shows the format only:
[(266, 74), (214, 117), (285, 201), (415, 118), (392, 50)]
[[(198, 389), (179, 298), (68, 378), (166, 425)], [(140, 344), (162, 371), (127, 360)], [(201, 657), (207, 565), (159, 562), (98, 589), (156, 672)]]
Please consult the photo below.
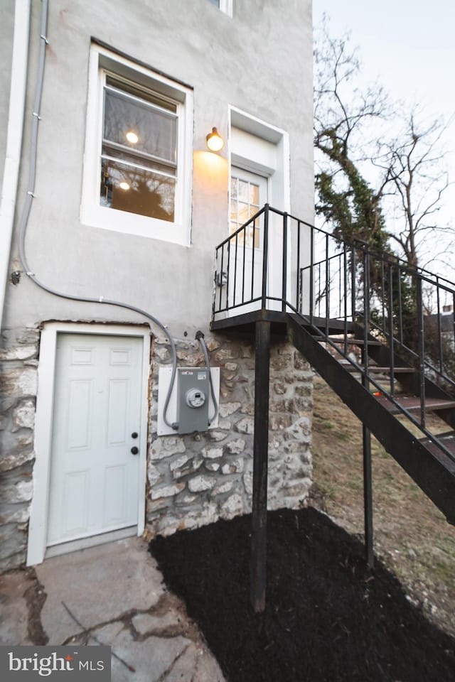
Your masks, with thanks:
[[(106, 75), (117, 75), (176, 102), (178, 115), (177, 179), (174, 220), (159, 220), (102, 206), (100, 203), (103, 102)], [(161, 239), (191, 242), (191, 176), (193, 172), (193, 91), (101, 45), (90, 49), (87, 124), (80, 220), (91, 227)]]

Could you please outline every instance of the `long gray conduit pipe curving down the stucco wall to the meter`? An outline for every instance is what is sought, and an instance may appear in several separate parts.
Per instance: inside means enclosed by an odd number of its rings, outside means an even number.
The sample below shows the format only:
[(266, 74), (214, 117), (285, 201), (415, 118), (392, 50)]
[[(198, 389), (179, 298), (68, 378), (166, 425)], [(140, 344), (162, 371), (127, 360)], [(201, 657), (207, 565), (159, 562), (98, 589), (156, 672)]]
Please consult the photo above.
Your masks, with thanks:
[(40, 115), (39, 114), (40, 114), (40, 110), (41, 110), (41, 96), (43, 94), (45, 51), (46, 51), (46, 45), (48, 44), (48, 39), (46, 37), (47, 36), (47, 30), (48, 30), (48, 0), (42, 0), (41, 33), (40, 33), (41, 46), (40, 46), (40, 56), (39, 56), (39, 64), (38, 64), (38, 75), (37, 75), (37, 80), (36, 80), (35, 102), (33, 104), (33, 114), (32, 114), (33, 121), (32, 121), (32, 131), (31, 131), (31, 144), (30, 144), (30, 163), (29, 163), (29, 167), (28, 167), (27, 195), (26, 195), (26, 200), (25, 200), (25, 203), (23, 205), (23, 211), (22, 211), (21, 218), (19, 220), (19, 225), (18, 225), (18, 248), (19, 248), (19, 257), (21, 259), (21, 264), (22, 264), (23, 269), (24, 269), (26, 275), (28, 276), (28, 278), (30, 278), (31, 281), (36, 284), (36, 286), (39, 286), (44, 291), (47, 291), (48, 293), (53, 294), (53, 296), (58, 296), (59, 298), (66, 298), (69, 301), (80, 301), (82, 303), (103, 303), (105, 305), (117, 305), (117, 307), (119, 307), (119, 308), (126, 308), (127, 310), (132, 310), (134, 313), (139, 313), (139, 315), (144, 315), (144, 318), (147, 318), (147, 320), (150, 320), (151, 323), (154, 323), (154, 325), (159, 327), (164, 332), (164, 334), (168, 337), (169, 343), (171, 345), (172, 374), (171, 374), (171, 383), (169, 384), (168, 393), (166, 396), (166, 401), (164, 403), (163, 418), (164, 418), (164, 423), (166, 423), (166, 426), (176, 430), (178, 428), (178, 425), (175, 423), (169, 423), (167, 420), (167, 417), (166, 417), (166, 413), (168, 411), (169, 401), (171, 399), (173, 384), (174, 384), (174, 381), (176, 379), (177, 352), (176, 352), (175, 342), (174, 342), (173, 338), (171, 337), (171, 335), (168, 334), (164, 324), (162, 324), (159, 320), (154, 318), (153, 315), (150, 315), (150, 313), (147, 313), (146, 310), (142, 310), (141, 308), (137, 308), (136, 305), (130, 305), (129, 303), (122, 303), (122, 301), (113, 301), (109, 298), (104, 298), (103, 296), (100, 296), (99, 298), (90, 298), (90, 297), (85, 297), (85, 296), (73, 296), (73, 294), (65, 293), (63, 291), (58, 291), (57, 289), (54, 289), (50, 286), (47, 286), (46, 284), (41, 282), (28, 266), (28, 261), (27, 261), (27, 257), (26, 257), (25, 242), (26, 242), (28, 218), (30, 217), (31, 205), (33, 203), (33, 197), (34, 197), (34, 192), (35, 192), (36, 155), (37, 155), (37, 148), (38, 148), (38, 124), (40, 121)]

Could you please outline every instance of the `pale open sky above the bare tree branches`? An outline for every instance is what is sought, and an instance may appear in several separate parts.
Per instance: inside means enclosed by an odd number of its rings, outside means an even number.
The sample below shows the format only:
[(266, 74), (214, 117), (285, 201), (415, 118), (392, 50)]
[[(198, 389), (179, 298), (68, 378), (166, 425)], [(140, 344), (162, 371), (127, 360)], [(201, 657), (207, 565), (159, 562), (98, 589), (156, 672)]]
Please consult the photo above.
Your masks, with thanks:
[[(323, 13), (331, 37), (350, 32), (365, 82), (378, 79), (391, 99), (419, 104), (431, 120), (455, 114), (455, 0), (313, 0), (315, 27)], [(455, 117), (445, 146), (455, 182)], [(441, 216), (455, 226), (455, 185), (444, 204)]]

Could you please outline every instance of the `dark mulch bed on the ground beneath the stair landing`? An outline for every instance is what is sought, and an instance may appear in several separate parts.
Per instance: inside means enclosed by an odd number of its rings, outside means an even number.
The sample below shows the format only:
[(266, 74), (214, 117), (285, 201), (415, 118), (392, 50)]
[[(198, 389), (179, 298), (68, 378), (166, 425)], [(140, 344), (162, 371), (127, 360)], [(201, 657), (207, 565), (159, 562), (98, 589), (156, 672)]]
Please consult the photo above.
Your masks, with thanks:
[(269, 512), (267, 608), (255, 615), (250, 526), (242, 516), (150, 544), (229, 682), (454, 682), (454, 639), (315, 509)]

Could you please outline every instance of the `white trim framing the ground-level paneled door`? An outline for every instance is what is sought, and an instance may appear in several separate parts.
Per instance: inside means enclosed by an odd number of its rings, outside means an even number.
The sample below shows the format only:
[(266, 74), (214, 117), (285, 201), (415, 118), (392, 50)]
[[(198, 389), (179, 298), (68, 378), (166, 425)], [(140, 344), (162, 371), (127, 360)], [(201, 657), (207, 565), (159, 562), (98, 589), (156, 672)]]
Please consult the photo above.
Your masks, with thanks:
[[(141, 372), (141, 433), (147, 433), (149, 412), (150, 329), (145, 325), (108, 325), (85, 323), (45, 323), (41, 332), (36, 396), (35, 465), (33, 467), (33, 499), (28, 526), (27, 565), (42, 563), (48, 528), (50, 455), (52, 450), (53, 397), (55, 387), (55, 350), (58, 334), (109, 335), (140, 337), (143, 342)], [(147, 438), (139, 444), (139, 501), (137, 535), (144, 532), (146, 502)]]

